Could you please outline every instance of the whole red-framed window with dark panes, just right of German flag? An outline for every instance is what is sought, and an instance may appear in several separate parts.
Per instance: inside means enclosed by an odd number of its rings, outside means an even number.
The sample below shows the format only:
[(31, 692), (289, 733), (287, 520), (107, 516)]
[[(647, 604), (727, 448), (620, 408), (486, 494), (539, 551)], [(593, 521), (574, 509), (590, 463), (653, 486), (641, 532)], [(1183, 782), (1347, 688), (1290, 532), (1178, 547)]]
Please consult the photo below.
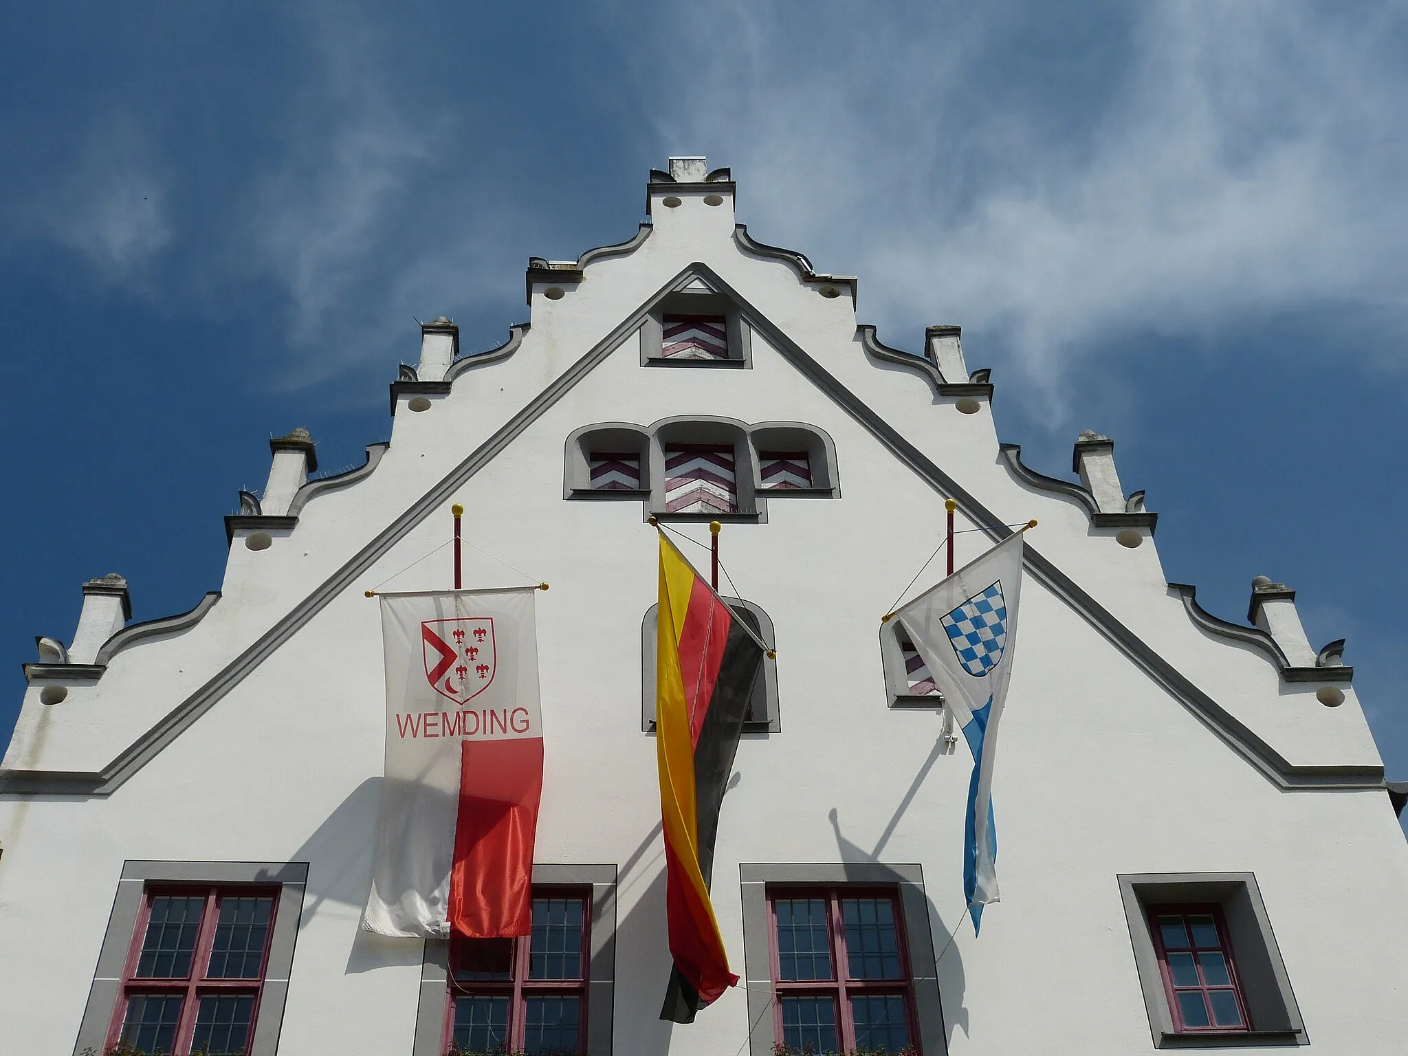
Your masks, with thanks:
[(914, 1052), (897, 893), (769, 891), (776, 1043), (787, 1053)]

